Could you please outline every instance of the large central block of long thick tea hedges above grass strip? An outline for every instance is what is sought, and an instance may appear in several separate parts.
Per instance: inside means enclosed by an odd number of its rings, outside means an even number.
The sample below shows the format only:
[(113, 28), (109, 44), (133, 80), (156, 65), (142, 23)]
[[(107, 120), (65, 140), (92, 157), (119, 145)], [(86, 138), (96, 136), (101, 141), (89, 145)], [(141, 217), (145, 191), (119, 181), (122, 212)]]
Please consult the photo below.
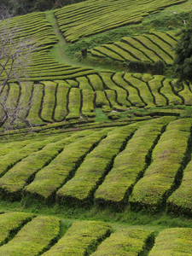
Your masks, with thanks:
[[(1, 156), (0, 195), (161, 211), (187, 173), (191, 125), (191, 119), (162, 117), (28, 143)], [(191, 214), (188, 197), (181, 212)]]

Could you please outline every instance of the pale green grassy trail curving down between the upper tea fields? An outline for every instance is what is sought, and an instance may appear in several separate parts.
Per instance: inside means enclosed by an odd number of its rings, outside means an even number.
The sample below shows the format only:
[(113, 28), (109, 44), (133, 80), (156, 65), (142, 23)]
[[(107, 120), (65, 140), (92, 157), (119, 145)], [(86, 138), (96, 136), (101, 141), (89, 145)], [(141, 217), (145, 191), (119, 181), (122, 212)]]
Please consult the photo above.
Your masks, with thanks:
[(46, 14), (46, 19), (49, 21), (51, 26), (53, 27), (53, 31), (55, 32), (55, 36), (58, 38), (58, 43), (53, 46), (52, 49), (50, 49), (50, 55), (55, 59), (55, 61), (58, 61), (59, 63), (67, 64), (67, 65), (72, 65), (72, 66), (79, 66), (79, 67), (93, 67), (96, 68), (96, 70), (100, 71), (103, 70), (103, 67), (97, 67), (97, 65), (94, 64), (89, 64), (84, 65), (82, 63), (79, 63), (78, 61), (75, 61), (74, 59), (71, 59), (67, 54), (66, 54), (66, 47), (67, 43), (65, 38), (62, 36), (59, 25), (57, 23), (57, 20), (55, 18), (55, 15), (53, 13), (53, 10), (49, 10), (45, 12)]

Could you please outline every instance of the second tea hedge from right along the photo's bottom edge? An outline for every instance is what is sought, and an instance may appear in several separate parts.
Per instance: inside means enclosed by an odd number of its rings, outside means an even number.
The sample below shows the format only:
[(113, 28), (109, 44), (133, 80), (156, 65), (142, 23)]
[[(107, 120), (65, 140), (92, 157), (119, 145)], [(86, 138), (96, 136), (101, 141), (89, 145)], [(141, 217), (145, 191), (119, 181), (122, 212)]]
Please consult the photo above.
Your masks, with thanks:
[(92, 256), (136, 256), (147, 252), (148, 244), (154, 241), (154, 231), (128, 227), (114, 232), (96, 249)]

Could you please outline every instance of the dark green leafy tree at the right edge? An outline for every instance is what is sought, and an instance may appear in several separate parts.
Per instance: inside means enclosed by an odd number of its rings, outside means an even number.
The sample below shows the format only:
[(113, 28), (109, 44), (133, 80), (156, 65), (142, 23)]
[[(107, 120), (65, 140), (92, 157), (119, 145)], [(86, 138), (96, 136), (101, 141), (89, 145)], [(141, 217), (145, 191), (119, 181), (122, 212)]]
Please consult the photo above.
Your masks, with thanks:
[(192, 83), (192, 25), (185, 25), (177, 33), (180, 36), (175, 47), (174, 72), (180, 81)]

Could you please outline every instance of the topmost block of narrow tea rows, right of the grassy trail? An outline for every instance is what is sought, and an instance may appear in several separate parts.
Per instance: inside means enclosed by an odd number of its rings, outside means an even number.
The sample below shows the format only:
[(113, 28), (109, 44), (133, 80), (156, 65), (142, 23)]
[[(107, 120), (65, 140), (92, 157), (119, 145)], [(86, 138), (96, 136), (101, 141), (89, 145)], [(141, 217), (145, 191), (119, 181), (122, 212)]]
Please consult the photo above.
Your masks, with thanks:
[(60, 30), (69, 42), (119, 26), (141, 22), (143, 17), (183, 1), (86, 1), (55, 10)]

